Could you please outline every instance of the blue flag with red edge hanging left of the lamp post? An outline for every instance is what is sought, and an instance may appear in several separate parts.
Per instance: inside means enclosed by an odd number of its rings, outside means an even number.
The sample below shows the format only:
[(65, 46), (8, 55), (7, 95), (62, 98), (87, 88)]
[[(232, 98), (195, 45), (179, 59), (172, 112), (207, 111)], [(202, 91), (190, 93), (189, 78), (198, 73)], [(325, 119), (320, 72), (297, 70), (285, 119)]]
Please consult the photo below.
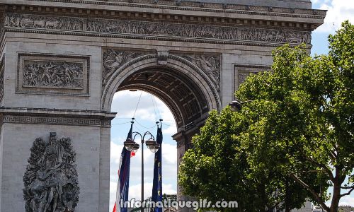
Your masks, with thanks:
[[(132, 125), (130, 126), (130, 131), (127, 135), (127, 139), (132, 139)], [(118, 175), (118, 187), (113, 212), (127, 212), (128, 208), (124, 207), (124, 205), (120, 205), (121, 201), (124, 203), (128, 200), (129, 192), (130, 151), (127, 151), (127, 149), (124, 147), (120, 155)]]

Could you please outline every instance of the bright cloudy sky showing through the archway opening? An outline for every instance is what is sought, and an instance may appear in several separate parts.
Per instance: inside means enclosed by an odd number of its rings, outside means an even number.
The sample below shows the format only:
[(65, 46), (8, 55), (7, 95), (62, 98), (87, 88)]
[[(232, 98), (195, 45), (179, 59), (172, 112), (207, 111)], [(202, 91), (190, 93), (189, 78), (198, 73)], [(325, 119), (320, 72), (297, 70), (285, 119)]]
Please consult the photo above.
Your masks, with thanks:
[[(138, 104), (139, 102), (139, 104)], [(133, 131), (144, 133), (150, 131), (156, 136), (156, 121), (160, 118), (164, 141), (162, 144), (162, 176), (164, 194), (177, 194), (177, 148), (172, 136), (177, 127), (169, 107), (152, 93), (142, 90), (121, 90), (115, 93), (112, 102), (113, 112), (118, 112), (110, 129), (110, 211), (113, 211), (118, 182), (118, 166), (123, 142), (130, 129), (130, 121), (135, 117)], [(139, 138), (136, 139), (139, 143)], [(141, 146), (130, 160), (129, 199), (141, 199)], [(144, 198), (152, 196), (154, 173), (154, 153), (144, 146)]]

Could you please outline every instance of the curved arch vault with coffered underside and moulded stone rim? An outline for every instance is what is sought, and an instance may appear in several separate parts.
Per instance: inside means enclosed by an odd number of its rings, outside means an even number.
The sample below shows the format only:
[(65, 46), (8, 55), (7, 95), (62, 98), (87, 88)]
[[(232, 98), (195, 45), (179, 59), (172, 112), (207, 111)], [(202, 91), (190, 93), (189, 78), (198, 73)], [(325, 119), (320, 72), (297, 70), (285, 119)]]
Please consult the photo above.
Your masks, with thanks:
[(163, 100), (178, 131), (203, 122), (210, 110), (220, 110), (219, 93), (210, 78), (190, 61), (173, 54), (166, 55), (163, 62), (159, 54), (147, 54), (122, 64), (105, 83), (102, 109), (110, 110), (116, 91), (135, 89)]

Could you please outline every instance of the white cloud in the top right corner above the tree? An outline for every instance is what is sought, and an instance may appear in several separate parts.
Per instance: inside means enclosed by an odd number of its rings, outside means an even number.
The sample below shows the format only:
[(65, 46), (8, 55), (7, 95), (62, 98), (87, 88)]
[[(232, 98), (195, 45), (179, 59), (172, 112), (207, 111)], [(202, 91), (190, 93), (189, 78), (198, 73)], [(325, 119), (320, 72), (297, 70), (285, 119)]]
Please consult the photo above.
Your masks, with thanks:
[[(313, 3), (319, 3), (313, 1)], [(328, 10), (324, 24), (315, 31), (318, 33), (334, 33), (344, 20), (354, 22), (354, 1), (332, 0), (321, 1), (319, 9)]]

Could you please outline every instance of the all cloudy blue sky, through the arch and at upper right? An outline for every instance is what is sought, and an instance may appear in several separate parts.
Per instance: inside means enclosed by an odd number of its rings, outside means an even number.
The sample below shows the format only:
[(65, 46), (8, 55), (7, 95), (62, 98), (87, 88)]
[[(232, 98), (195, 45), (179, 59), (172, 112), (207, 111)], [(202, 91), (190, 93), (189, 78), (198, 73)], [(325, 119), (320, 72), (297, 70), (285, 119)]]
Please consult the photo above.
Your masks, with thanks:
[[(312, 54), (326, 54), (328, 52), (327, 37), (333, 34), (343, 20), (350, 20), (354, 23), (354, 0), (312, 0), (312, 8), (328, 10), (324, 25), (312, 33)], [(139, 106), (137, 102), (141, 94)], [(156, 105), (156, 106), (154, 106)], [(135, 112), (135, 107), (137, 111)], [(176, 142), (171, 136), (176, 133), (176, 124), (173, 116), (164, 102), (149, 93), (140, 91), (130, 92), (128, 90), (115, 94), (113, 98), (112, 111), (118, 112), (113, 119), (111, 128), (111, 147), (110, 147), (110, 211), (113, 209), (115, 192), (118, 181), (118, 165), (122, 143), (125, 141), (127, 132), (130, 129), (130, 119), (135, 114), (134, 130), (139, 132), (151, 131), (156, 134), (156, 120), (164, 119), (163, 133), (163, 190), (166, 194), (176, 194)], [(140, 199), (141, 187), (141, 151), (131, 160), (130, 167), (130, 199)], [(147, 198), (152, 193), (152, 177), (154, 155), (144, 148), (144, 196)], [(354, 194), (341, 199), (341, 204), (354, 206)]]

